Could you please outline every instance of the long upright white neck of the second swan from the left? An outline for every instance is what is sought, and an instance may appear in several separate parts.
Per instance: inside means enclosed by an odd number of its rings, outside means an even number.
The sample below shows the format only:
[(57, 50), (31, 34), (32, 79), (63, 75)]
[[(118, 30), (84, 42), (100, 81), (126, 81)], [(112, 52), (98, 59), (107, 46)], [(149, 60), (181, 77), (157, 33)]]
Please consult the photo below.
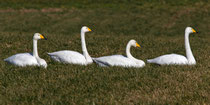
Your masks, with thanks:
[(85, 32), (81, 31), (81, 41), (82, 41), (82, 52), (83, 55), (85, 56), (87, 63), (92, 63), (93, 60), (88, 54), (87, 48), (86, 48), (86, 43), (85, 43)]

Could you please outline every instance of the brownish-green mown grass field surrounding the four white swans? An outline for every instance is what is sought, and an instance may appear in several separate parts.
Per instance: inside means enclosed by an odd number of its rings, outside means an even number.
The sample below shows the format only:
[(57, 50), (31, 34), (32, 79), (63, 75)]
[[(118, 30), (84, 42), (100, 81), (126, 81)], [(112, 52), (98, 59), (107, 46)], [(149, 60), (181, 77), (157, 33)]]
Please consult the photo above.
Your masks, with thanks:
[[(0, 104), (209, 104), (210, 3), (205, 0), (31, 1), (0, 0)], [(146, 62), (162, 54), (185, 55), (190, 36), (195, 66), (102, 68), (53, 62), (47, 52), (81, 51), (80, 29), (88, 26), (92, 57), (123, 54), (130, 39), (142, 48), (131, 53)], [(3, 59), (32, 51), (32, 36), (44, 34), (38, 52), (48, 68), (15, 67)]]

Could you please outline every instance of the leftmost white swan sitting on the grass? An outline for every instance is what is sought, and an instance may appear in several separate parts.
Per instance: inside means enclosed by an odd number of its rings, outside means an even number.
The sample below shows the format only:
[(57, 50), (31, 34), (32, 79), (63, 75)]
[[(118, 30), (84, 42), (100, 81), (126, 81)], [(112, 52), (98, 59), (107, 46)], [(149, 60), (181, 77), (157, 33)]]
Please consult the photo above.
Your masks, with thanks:
[(19, 53), (15, 54), (9, 58), (4, 59), (5, 62), (8, 62), (10, 64), (16, 65), (16, 66), (42, 66), (44, 68), (47, 68), (47, 63), (44, 59), (41, 59), (38, 55), (37, 51), (37, 40), (39, 39), (46, 39), (43, 35), (40, 33), (35, 33), (33, 36), (33, 53)]

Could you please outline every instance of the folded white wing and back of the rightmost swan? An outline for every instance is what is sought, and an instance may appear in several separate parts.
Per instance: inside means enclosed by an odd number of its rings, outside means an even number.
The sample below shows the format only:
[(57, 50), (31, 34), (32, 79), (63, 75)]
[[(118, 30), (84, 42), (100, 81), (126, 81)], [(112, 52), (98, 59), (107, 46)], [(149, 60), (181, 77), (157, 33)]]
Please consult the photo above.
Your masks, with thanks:
[(149, 60), (147, 60), (147, 62), (148, 63), (156, 63), (159, 65), (170, 65), (170, 64), (183, 65), (183, 64), (187, 64), (188, 60), (183, 55), (167, 54), (167, 55), (159, 56), (154, 59), (149, 59)]

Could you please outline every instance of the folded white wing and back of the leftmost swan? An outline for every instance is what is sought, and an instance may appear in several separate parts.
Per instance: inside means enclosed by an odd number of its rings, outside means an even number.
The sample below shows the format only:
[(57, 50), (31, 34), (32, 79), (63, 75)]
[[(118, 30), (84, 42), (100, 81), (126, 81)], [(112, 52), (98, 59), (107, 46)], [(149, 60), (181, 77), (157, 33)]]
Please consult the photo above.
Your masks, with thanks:
[(4, 61), (17, 66), (38, 65), (36, 58), (30, 53), (15, 54)]

